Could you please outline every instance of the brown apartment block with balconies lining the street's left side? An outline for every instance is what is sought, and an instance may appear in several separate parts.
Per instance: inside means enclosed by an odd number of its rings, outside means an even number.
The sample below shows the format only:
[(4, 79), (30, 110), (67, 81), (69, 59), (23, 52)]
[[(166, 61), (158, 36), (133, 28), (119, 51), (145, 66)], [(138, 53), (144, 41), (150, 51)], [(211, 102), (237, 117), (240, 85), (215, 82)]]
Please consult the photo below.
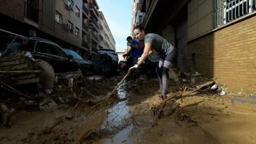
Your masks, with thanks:
[(0, 28), (46, 38), (81, 56), (96, 53), (99, 6), (96, 0), (0, 0)]

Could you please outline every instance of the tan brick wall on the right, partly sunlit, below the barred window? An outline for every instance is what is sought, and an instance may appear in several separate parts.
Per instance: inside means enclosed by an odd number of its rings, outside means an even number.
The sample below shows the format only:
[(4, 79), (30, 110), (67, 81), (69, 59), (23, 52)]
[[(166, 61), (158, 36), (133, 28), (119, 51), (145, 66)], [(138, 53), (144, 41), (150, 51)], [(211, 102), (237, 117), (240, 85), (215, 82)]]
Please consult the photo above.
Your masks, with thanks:
[(189, 67), (217, 78), (228, 90), (256, 93), (256, 16), (189, 42), (187, 58)]

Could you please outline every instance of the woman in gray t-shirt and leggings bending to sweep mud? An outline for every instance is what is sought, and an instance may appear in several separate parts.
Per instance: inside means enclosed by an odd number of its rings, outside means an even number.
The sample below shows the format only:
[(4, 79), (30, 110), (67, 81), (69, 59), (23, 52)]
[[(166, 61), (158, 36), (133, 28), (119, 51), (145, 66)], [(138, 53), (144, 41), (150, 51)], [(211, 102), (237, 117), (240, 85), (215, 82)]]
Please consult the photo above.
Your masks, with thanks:
[(133, 28), (133, 34), (139, 40), (144, 40), (145, 47), (137, 64), (135, 64), (129, 70), (138, 68), (139, 65), (144, 62), (144, 60), (150, 54), (152, 54), (153, 50), (157, 51), (161, 58), (157, 67), (157, 76), (160, 81), (160, 91), (162, 91), (161, 98), (164, 100), (166, 98), (166, 91), (168, 88), (168, 71), (171, 67), (173, 67), (173, 59), (176, 55), (176, 48), (174, 48), (172, 44), (170, 44), (160, 35), (155, 33), (146, 34), (142, 25), (136, 25), (136, 27)]

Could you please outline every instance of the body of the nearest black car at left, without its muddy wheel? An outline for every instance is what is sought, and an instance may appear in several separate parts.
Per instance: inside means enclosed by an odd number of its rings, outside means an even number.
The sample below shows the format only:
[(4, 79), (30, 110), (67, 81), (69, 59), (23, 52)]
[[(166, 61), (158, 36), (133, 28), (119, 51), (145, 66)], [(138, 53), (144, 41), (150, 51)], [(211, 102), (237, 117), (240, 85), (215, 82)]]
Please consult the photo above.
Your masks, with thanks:
[[(55, 73), (77, 72), (78, 65), (73, 56), (65, 54), (56, 43), (42, 38), (26, 38), (0, 35), (0, 55), (12, 54), (15, 51), (29, 51), (33, 59), (48, 62)], [(12, 43), (11, 45), (9, 45)], [(8, 48), (8, 49), (7, 49)]]

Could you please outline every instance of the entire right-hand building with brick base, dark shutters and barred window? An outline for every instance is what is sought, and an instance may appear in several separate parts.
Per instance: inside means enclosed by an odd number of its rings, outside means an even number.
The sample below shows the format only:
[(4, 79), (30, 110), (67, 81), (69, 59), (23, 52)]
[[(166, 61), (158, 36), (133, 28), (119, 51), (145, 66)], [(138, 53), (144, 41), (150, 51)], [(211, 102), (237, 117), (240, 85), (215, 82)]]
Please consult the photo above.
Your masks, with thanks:
[(143, 1), (144, 27), (178, 49), (177, 67), (194, 67), (229, 91), (255, 93), (253, 0)]

